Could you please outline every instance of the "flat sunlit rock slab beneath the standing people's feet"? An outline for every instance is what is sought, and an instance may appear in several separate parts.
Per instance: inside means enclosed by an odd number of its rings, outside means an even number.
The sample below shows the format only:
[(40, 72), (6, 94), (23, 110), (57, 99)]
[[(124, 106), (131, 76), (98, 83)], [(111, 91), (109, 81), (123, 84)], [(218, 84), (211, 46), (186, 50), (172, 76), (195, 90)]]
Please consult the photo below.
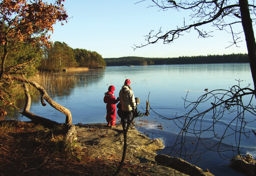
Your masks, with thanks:
[[(116, 124), (116, 128), (110, 128), (102, 123), (76, 125), (76, 132), (76, 144), (86, 147), (92, 157), (123, 154), (123, 128), (120, 124)], [(161, 140), (151, 140), (136, 129), (127, 133), (126, 158), (132, 158), (133, 162), (154, 161), (155, 151), (163, 147)]]

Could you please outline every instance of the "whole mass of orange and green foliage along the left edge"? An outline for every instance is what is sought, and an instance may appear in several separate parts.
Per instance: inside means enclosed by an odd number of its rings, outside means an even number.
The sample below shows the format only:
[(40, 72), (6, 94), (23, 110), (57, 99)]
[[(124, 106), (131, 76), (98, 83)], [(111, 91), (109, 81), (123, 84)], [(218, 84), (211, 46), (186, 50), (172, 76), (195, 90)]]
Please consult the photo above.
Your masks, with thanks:
[[(0, 106), (15, 107), (14, 98), (23, 81), (33, 75), (42, 54), (39, 46), (50, 47), (53, 24), (66, 21), (62, 2), (0, 0)], [(9, 75), (13, 75), (11, 78)], [(16, 80), (13, 80), (16, 78)]]

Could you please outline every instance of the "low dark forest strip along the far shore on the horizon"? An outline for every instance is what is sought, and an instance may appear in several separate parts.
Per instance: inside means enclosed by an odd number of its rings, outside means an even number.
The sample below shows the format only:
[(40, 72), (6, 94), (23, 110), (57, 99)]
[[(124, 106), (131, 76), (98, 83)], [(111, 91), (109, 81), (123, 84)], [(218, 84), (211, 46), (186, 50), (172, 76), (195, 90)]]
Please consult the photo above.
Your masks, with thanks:
[(105, 58), (107, 66), (122, 65), (172, 65), (172, 64), (218, 64), (218, 63), (247, 63), (247, 54), (181, 56), (178, 58), (143, 58), (128, 56), (122, 58)]

